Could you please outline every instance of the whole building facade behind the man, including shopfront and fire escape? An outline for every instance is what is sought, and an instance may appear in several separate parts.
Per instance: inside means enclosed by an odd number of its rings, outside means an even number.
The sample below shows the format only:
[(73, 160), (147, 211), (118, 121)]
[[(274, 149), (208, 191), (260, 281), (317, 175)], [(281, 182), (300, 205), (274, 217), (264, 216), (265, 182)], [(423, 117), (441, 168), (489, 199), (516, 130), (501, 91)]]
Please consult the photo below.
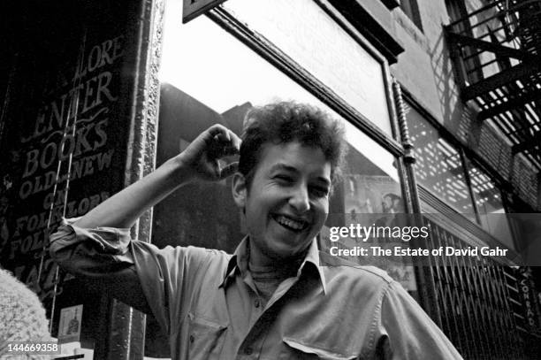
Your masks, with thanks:
[[(0, 264), (40, 295), (54, 336), (77, 306), (74, 340), (88, 358), (167, 357), (152, 318), (58, 272), (48, 235), (208, 126), (240, 134), (252, 106), (296, 100), (347, 126), (320, 248), (337, 245), (333, 227), (413, 223), (430, 236), (411, 248), (505, 249), (347, 258), (400, 281), (465, 358), (538, 358), (541, 1), (2, 6)], [(243, 228), (230, 187), (179, 189), (133, 237), (232, 251)], [(338, 246), (391, 249), (387, 240)]]

